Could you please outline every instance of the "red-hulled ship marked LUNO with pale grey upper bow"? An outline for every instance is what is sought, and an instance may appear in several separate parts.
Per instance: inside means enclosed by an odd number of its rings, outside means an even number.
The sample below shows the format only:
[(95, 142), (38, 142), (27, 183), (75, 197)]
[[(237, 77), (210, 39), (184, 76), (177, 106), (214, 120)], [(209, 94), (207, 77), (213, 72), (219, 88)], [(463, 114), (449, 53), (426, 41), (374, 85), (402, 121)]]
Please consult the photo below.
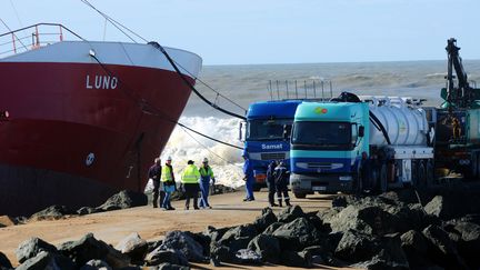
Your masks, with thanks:
[(201, 58), (164, 48), (178, 73), (152, 43), (87, 41), (56, 23), (6, 39), (0, 214), (94, 207), (119, 190), (143, 191), (190, 97), (184, 79), (194, 83)]

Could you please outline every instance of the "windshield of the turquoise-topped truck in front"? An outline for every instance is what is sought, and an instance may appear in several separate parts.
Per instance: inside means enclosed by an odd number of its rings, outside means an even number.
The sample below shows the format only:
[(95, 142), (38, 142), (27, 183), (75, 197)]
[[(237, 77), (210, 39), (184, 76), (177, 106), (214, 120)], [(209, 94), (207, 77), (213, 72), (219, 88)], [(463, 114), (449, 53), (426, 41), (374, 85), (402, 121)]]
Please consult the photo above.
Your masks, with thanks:
[(348, 150), (351, 141), (348, 122), (296, 122), (291, 140), (292, 147), (299, 150)]

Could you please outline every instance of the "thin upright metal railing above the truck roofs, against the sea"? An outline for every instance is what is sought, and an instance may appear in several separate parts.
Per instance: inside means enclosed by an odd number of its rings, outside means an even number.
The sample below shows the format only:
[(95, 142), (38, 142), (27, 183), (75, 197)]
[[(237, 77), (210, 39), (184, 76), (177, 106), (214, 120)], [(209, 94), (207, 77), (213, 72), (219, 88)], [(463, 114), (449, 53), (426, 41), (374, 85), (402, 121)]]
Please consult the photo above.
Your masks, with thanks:
[(267, 84), (271, 100), (330, 100), (333, 98), (332, 81), (329, 79), (269, 80)]

